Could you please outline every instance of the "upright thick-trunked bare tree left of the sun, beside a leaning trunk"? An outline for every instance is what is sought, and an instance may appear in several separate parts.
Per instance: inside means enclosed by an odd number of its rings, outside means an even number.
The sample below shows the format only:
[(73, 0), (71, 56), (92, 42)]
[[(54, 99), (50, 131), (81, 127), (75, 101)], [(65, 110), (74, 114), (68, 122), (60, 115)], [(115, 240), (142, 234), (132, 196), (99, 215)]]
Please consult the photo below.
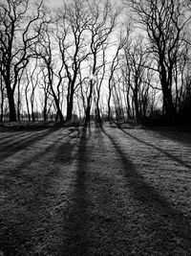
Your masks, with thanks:
[(74, 108), (74, 93), (79, 84), (79, 69), (87, 52), (87, 24), (89, 13), (85, 1), (73, 0), (64, 4), (64, 12), (58, 12), (57, 39), (63, 62), (67, 85), (67, 120), (71, 120)]

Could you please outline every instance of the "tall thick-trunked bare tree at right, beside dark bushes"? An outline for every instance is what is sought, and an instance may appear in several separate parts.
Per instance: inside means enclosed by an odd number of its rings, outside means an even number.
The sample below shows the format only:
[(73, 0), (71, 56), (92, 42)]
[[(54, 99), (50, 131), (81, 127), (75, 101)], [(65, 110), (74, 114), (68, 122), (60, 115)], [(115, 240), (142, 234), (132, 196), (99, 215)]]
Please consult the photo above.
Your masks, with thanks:
[(163, 94), (163, 106), (169, 120), (176, 108), (173, 100), (173, 71), (182, 47), (188, 17), (183, 0), (127, 0), (138, 14), (147, 32), (151, 54), (156, 60)]

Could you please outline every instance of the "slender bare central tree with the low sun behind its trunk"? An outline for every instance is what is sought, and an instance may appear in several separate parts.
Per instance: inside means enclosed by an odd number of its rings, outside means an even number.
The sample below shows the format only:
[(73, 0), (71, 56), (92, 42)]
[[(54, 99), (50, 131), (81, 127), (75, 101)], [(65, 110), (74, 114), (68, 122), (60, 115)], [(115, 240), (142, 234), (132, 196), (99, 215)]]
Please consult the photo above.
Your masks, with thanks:
[(93, 91), (94, 85), (96, 84), (95, 77), (98, 67), (98, 56), (102, 51), (102, 47), (105, 44), (108, 44), (109, 36), (112, 34), (117, 25), (117, 16), (119, 14), (119, 10), (115, 11), (112, 9), (111, 3), (109, 1), (89, 1), (88, 4), (91, 17), (88, 30), (90, 33), (92, 71), (86, 105), (86, 122), (90, 121)]

